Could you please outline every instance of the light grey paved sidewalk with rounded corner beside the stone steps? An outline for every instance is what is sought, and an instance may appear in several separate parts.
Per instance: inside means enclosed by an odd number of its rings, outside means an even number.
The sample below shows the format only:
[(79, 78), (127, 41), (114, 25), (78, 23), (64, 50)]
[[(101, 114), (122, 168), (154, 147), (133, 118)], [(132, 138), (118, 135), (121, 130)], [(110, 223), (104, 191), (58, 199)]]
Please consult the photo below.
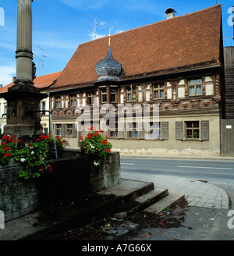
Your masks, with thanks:
[(229, 209), (229, 196), (219, 187), (197, 180), (175, 176), (144, 175), (121, 172), (122, 178), (131, 180), (150, 181), (154, 187), (167, 188), (168, 192), (184, 194), (189, 206), (203, 208)]

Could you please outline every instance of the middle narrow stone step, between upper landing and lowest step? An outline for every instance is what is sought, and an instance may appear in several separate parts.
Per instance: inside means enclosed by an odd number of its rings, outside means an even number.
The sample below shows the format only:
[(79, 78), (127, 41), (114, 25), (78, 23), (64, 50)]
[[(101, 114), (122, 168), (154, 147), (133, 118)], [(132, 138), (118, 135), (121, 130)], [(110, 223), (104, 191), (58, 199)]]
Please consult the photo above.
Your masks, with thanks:
[(129, 214), (133, 214), (134, 212), (139, 212), (145, 208), (148, 208), (151, 204), (155, 204), (167, 196), (167, 189), (156, 187), (147, 194), (137, 197), (133, 201), (119, 207), (118, 212), (115, 212), (114, 216), (119, 219), (125, 218)]

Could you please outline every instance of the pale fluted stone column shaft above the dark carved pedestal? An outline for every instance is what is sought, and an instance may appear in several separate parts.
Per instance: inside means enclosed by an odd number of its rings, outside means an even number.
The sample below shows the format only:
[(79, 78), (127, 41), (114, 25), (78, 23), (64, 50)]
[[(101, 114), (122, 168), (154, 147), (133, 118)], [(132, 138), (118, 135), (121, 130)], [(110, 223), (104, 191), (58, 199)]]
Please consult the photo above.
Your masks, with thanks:
[(16, 83), (33, 84), (32, 52), (32, 2), (18, 0), (17, 7), (17, 47), (16, 47)]

